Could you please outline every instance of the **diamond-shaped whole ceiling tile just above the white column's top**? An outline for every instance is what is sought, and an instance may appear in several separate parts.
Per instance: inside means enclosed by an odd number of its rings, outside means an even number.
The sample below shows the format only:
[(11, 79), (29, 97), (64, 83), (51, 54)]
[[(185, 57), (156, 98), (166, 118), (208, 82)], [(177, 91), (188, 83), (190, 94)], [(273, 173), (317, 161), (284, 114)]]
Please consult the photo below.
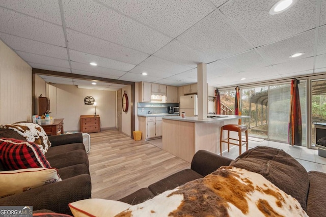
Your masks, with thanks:
[(196, 50), (222, 59), (250, 50), (249, 45), (216, 10), (177, 38)]

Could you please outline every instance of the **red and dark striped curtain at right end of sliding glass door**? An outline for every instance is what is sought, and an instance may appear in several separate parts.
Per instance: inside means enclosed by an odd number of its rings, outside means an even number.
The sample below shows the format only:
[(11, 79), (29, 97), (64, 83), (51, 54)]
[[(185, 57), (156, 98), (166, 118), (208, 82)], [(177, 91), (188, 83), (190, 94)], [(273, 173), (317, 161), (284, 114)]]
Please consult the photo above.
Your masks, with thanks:
[(299, 95), (299, 80), (291, 81), (290, 115), (288, 142), (290, 145), (302, 145), (302, 117)]

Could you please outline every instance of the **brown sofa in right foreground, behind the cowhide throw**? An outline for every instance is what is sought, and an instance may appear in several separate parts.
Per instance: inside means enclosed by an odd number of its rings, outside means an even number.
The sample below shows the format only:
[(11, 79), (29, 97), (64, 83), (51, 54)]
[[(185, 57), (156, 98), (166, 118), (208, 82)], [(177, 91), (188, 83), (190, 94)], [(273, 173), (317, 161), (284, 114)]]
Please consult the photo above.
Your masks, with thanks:
[(131, 205), (141, 203), (188, 181), (202, 178), (221, 166), (233, 166), (259, 173), (297, 199), (310, 217), (326, 215), (326, 173), (307, 172), (285, 151), (264, 146), (250, 149), (235, 160), (199, 150), (193, 157), (191, 169), (159, 180), (120, 201)]

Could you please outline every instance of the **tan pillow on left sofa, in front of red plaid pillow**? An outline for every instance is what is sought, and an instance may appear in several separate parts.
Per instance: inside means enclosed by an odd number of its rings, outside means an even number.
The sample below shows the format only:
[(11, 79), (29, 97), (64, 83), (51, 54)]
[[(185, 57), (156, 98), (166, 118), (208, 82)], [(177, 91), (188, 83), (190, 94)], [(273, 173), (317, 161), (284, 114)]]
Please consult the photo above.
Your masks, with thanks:
[(0, 198), (61, 181), (55, 168), (29, 168), (0, 172)]

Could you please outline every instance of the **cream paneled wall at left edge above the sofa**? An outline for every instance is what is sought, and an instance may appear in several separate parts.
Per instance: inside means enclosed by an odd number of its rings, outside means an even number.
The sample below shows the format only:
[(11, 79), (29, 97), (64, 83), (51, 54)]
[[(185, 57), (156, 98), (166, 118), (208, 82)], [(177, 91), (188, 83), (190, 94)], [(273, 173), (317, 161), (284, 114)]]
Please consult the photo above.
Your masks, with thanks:
[(32, 67), (0, 40), (0, 124), (32, 121)]

